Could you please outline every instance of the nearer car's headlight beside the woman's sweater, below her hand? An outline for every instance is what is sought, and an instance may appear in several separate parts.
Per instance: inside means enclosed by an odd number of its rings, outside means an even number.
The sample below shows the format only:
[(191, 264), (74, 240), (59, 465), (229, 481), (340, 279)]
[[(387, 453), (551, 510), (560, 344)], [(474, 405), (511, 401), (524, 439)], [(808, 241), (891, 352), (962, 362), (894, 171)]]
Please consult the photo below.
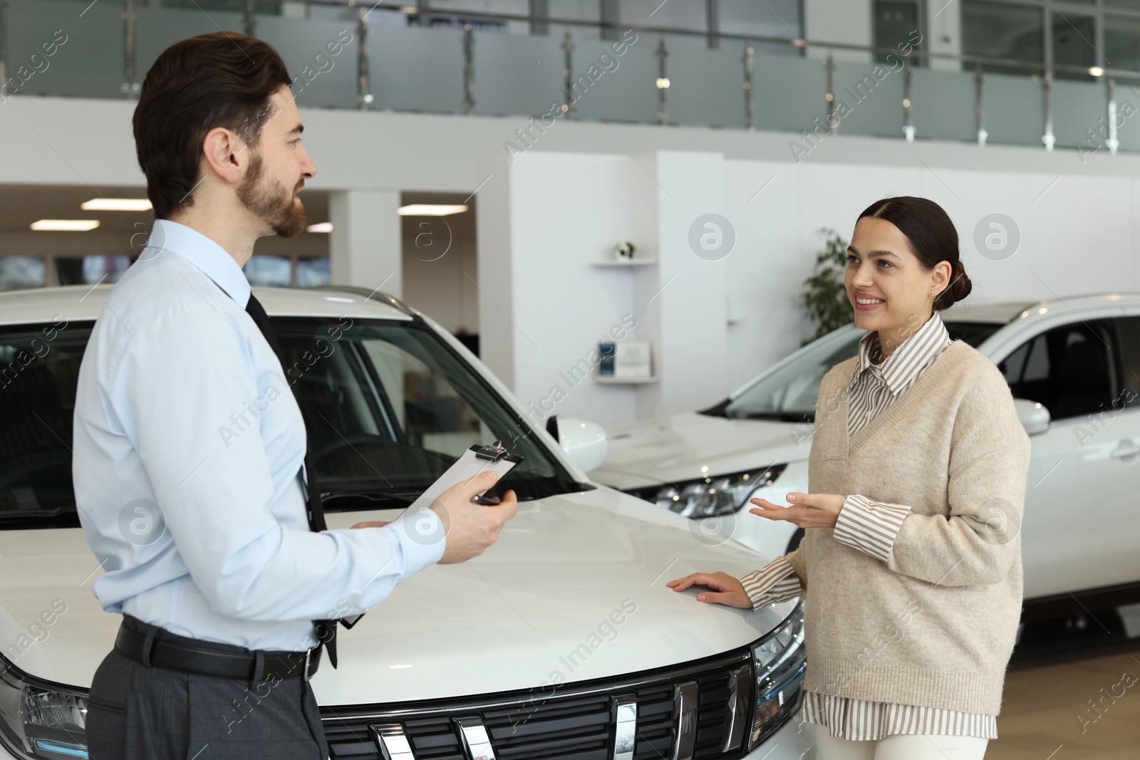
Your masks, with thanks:
[(752, 747), (780, 730), (799, 710), (804, 696), (804, 603), (799, 602), (780, 626), (752, 645), (756, 673), (756, 714)]

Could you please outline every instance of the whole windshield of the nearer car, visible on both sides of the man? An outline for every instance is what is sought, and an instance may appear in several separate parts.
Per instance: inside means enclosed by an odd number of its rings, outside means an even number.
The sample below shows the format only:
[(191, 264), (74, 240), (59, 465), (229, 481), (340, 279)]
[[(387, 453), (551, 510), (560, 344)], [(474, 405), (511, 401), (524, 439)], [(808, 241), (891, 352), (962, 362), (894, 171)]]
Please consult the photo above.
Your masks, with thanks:
[[(520, 500), (580, 491), (531, 428), (421, 322), (274, 318), (326, 509), (402, 506), (467, 448), (524, 457), (491, 490)], [(72, 415), (91, 322), (0, 327), (0, 529), (78, 525)], [(334, 329), (344, 328), (340, 337)]]

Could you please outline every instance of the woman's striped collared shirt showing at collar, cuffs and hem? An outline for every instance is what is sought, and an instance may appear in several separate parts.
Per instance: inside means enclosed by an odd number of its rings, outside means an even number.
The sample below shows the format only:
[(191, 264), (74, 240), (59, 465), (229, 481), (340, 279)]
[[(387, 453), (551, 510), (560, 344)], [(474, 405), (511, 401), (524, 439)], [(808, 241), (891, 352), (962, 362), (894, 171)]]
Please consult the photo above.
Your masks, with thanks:
[[(950, 334), (938, 312), (907, 335), (886, 359), (882, 359), (878, 332), (868, 332), (860, 340), (858, 369), (848, 386), (848, 436), (879, 416), (913, 385), (950, 342)], [(910, 510), (906, 505), (876, 501), (852, 493), (839, 510), (834, 539), (886, 562)], [(787, 602), (804, 593), (799, 577), (785, 557), (777, 557), (760, 570), (742, 575), (740, 581), (752, 602), (752, 610)], [(995, 716), (853, 700), (819, 692), (805, 693), (801, 720), (825, 727), (831, 736), (854, 742), (877, 741), (891, 734), (997, 738)]]

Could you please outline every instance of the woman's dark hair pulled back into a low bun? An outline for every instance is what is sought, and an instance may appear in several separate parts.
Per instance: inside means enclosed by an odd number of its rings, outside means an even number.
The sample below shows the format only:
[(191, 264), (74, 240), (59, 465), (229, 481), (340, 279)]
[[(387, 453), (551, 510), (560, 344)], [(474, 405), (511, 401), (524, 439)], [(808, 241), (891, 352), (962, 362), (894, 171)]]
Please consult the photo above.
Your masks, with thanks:
[[(882, 219), (906, 236), (922, 269), (930, 271), (939, 261), (950, 262), (950, 285), (934, 300), (935, 311), (946, 309), (970, 294), (970, 278), (958, 258), (958, 230), (934, 201), (901, 195), (876, 201), (858, 215)], [(857, 221), (857, 220), (856, 220)]]

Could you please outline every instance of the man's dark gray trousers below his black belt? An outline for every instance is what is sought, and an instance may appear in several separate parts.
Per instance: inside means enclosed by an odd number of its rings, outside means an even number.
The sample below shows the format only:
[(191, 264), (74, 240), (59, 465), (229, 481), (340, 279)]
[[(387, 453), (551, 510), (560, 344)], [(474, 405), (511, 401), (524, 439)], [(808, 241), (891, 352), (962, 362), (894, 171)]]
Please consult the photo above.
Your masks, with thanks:
[(308, 681), (251, 684), (153, 668), (114, 651), (91, 683), (87, 739), (91, 760), (328, 758)]

